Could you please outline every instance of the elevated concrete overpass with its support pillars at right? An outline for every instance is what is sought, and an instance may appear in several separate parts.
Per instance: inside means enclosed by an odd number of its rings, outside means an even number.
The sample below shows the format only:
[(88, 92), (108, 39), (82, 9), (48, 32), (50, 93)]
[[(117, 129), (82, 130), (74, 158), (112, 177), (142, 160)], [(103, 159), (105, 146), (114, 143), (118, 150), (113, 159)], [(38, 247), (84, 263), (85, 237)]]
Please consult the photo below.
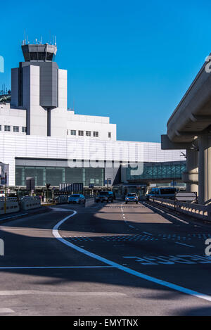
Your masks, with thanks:
[(198, 191), (200, 204), (211, 203), (211, 56), (167, 122), (162, 149), (186, 149), (188, 191)]

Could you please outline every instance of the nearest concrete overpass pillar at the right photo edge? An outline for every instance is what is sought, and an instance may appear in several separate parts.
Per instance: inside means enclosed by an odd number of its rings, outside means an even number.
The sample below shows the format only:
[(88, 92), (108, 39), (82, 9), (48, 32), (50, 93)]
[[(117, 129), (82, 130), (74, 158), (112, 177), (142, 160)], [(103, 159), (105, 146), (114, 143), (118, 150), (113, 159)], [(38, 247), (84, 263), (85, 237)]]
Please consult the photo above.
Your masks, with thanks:
[(211, 135), (198, 137), (198, 203), (211, 203)]

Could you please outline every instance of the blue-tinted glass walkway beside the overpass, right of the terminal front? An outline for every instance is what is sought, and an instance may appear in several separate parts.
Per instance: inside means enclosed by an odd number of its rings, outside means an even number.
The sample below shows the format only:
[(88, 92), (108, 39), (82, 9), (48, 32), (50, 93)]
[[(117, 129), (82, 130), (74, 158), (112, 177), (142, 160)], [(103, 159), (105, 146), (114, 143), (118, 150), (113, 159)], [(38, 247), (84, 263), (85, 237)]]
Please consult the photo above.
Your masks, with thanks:
[[(133, 173), (132, 173), (133, 171)], [(146, 179), (181, 179), (186, 171), (186, 162), (174, 163), (144, 163), (142, 174), (135, 175), (134, 168), (127, 168), (127, 180)]]

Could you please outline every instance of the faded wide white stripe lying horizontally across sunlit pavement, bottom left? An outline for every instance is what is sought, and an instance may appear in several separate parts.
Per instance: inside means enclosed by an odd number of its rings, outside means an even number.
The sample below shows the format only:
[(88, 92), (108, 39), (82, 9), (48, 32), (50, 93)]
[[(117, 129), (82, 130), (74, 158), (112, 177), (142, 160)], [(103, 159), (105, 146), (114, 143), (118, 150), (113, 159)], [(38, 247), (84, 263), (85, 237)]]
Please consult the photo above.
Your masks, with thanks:
[[(82, 291), (39, 291), (39, 290), (5, 290), (0, 291), (0, 296), (20, 296), (20, 295), (50, 295), (50, 296), (127, 296), (120, 292), (82, 292)], [(4, 308), (2, 308), (4, 310)], [(0, 308), (1, 312), (1, 308)]]

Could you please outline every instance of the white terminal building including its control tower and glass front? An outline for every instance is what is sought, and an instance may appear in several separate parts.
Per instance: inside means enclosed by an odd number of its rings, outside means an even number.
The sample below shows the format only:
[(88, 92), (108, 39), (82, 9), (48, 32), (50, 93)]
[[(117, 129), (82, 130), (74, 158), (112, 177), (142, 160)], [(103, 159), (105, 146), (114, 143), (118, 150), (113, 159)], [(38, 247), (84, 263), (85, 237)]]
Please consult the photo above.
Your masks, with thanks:
[(11, 70), (11, 103), (0, 103), (0, 162), (9, 165), (9, 186), (25, 186), (27, 177), (37, 187), (181, 181), (184, 151), (117, 140), (110, 118), (68, 109), (68, 72), (54, 61), (56, 45), (23, 42), (22, 50), (25, 61)]

